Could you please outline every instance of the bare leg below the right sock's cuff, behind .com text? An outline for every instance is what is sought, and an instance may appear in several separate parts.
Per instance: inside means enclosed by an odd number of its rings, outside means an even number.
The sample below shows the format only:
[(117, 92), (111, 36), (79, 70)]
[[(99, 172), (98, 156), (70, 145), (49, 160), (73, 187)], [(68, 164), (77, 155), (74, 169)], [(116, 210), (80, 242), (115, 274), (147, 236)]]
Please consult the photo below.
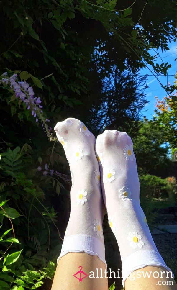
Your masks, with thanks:
[[(125, 281), (125, 290), (177, 290), (177, 284), (171, 278), (171, 273), (167, 275), (166, 272), (167, 269), (158, 266), (147, 266), (133, 271)], [(145, 274), (146, 278), (143, 276)]]

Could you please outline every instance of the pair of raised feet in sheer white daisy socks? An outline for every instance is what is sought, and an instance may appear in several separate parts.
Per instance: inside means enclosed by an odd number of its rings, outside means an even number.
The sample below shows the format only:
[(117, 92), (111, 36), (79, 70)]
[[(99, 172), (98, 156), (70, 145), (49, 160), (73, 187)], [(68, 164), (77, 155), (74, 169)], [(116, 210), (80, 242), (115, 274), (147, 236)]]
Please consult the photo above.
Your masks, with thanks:
[(83, 122), (73, 118), (58, 122), (54, 130), (72, 177), (71, 214), (59, 258), (84, 251), (106, 264), (102, 232), (106, 207), (121, 254), (123, 285), (131, 271), (145, 266), (171, 271), (158, 253), (140, 206), (136, 159), (127, 133), (106, 130), (95, 140)]

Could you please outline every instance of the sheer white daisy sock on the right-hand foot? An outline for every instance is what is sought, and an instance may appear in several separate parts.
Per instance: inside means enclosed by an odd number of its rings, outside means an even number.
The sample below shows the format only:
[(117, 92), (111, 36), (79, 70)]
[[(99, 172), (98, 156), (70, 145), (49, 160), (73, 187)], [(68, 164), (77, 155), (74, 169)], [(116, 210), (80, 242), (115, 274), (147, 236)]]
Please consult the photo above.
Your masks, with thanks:
[(155, 246), (140, 206), (131, 138), (125, 132), (106, 130), (97, 137), (95, 150), (108, 222), (119, 245), (123, 286), (131, 271), (145, 266), (163, 266), (171, 271)]

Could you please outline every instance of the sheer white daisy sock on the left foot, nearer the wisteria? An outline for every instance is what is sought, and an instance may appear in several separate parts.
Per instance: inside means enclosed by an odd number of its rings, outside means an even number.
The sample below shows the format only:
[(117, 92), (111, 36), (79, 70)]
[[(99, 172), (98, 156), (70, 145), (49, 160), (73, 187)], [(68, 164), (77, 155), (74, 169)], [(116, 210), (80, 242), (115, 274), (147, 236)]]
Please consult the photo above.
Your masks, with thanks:
[(71, 213), (58, 260), (65, 254), (85, 252), (106, 264), (102, 222), (104, 202), (95, 137), (79, 120), (68, 118), (54, 128), (70, 165)]

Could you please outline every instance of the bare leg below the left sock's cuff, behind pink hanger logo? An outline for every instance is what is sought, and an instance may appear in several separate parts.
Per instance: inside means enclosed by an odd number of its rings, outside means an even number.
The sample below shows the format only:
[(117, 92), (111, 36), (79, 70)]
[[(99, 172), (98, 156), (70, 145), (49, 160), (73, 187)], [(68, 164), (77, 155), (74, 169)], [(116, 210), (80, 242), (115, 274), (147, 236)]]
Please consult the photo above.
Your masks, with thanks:
[[(79, 266), (82, 266), (82, 271), (88, 276), (82, 281), (79, 281), (73, 275), (79, 271)], [(103, 278), (89, 278), (90, 271), (94, 272), (94, 276)], [(97, 257), (82, 253), (68, 253), (60, 258), (53, 280), (52, 290), (108, 290), (108, 279), (104, 276), (106, 270), (105, 264)], [(92, 275), (92, 273), (91, 273)], [(77, 275), (79, 277), (79, 275)], [(82, 275), (83, 276), (83, 275)], [(82, 278), (81, 276), (81, 278)]]

